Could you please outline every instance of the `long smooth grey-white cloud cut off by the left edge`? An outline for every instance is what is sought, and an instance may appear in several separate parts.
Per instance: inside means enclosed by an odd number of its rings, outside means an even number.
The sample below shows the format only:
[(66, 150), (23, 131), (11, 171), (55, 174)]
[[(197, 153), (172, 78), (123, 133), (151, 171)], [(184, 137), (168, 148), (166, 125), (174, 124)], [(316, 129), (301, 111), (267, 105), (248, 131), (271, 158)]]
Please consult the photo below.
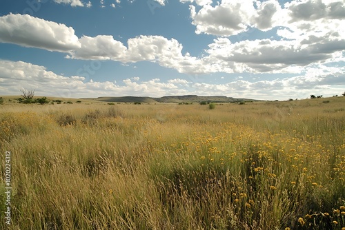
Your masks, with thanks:
[(57, 52), (69, 52), (80, 47), (73, 28), (28, 14), (0, 17), (0, 42)]

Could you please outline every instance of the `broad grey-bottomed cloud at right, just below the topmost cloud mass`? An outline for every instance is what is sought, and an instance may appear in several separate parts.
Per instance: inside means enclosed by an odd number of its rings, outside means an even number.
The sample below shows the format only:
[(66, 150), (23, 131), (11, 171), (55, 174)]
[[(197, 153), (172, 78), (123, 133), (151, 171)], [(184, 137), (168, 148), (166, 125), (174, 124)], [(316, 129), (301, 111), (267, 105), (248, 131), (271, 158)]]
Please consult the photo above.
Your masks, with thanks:
[(223, 63), (224, 70), (229, 67), (234, 72), (300, 72), (311, 63), (343, 56), (345, 39), (325, 34), (300, 36), (297, 41), (262, 39), (231, 43), (229, 39), (219, 38), (208, 46), (207, 59)]

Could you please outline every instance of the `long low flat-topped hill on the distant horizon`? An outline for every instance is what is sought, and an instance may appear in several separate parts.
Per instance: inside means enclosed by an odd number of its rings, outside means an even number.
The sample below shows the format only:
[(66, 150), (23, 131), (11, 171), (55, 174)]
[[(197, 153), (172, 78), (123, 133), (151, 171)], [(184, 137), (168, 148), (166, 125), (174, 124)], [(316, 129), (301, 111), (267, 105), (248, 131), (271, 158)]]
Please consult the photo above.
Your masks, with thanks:
[(99, 98), (84, 98), (93, 99), (95, 101), (104, 102), (122, 102), (122, 103), (200, 103), (201, 101), (214, 102), (214, 103), (230, 103), (237, 101), (258, 101), (247, 98), (233, 98), (228, 96), (197, 96), (197, 95), (184, 95), (184, 96), (162, 96), (159, 98), (152, 98), (149, 96), (108, 96)]

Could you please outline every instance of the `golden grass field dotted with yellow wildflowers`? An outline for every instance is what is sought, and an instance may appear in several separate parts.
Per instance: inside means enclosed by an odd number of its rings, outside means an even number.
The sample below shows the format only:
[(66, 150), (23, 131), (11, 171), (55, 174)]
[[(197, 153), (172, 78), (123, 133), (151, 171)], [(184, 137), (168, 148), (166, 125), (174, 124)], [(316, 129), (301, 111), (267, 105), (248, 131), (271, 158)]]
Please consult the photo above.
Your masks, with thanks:
[(6, 101), (9, 229), (344, 230), (344, 105)]

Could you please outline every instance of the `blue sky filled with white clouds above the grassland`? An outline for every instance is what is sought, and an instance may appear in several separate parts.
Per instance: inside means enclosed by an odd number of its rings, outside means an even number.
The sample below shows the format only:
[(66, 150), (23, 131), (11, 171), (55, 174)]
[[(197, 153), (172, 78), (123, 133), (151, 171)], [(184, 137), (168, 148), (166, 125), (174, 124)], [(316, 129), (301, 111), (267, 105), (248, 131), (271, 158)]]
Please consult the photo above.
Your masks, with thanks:
[(341, 96), (344, 0), (1, 0), (0, 95)]

